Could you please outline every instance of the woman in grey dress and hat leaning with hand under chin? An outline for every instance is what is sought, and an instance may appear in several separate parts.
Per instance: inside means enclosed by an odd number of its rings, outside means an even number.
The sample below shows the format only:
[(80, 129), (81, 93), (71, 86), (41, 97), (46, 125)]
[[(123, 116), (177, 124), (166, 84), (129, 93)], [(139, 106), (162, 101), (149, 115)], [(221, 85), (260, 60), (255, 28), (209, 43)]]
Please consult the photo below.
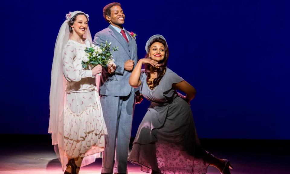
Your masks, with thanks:
[[(147, 56), (138, 61), (129, 83), (140, 86), (140, 94), (151, 103), (128, 160), (151, 173), (202, 174), (211, 165), (230, 174), (227, 159), (218, 159), (201, 148), (189, 106), (196, 91), (166, 67), (169, 51), (165, 38), (150, 37), (145, 49)], [(146, 66), (141, 70), (143, 64)]]

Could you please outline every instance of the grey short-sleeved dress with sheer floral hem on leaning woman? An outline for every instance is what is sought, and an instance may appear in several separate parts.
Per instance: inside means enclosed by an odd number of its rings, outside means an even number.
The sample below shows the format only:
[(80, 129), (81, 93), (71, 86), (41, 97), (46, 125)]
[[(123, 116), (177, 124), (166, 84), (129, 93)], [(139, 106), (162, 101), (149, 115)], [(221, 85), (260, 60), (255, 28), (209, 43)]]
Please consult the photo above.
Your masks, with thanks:
[(141, 73), (140, 93), (150, 107), (137, 131), (129, 161), (160, 173), (202, 174), (207, 172), (212, 155), (201, 148), (188, 103), (172, 88), (183, 79), (166, 67), (153, 90)]

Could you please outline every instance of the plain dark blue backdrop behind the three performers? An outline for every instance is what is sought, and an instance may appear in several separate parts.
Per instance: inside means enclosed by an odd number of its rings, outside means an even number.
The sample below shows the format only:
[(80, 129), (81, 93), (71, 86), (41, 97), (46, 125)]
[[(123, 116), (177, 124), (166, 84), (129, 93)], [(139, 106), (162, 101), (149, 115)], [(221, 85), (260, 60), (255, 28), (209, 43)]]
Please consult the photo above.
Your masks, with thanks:
[[(2, 134), (47, 134), (50, 72), (60, 25), (69, 11), (107, 27), (111, 1), (5, 1), (1, 4)], [(290, 139), (288, 1), (119, 1), (138, 56), (162, 34), (169, 68), (197, 90), (191, 102), (202, 138)], [(135, 109), (132, 136), (149, 102)]]

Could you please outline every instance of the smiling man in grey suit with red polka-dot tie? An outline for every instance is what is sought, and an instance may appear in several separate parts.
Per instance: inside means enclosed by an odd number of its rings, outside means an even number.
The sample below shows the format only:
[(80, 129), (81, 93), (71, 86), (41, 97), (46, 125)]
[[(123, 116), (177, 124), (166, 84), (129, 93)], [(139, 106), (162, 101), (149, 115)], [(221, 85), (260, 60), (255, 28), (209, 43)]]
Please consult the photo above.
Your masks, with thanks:
[[(105, 151), (102, 153), (101, 173), (127, 173), (127, 158), (131, 137), (132, 118), (135, 107), (135, 91), (129, 85), (129, 77), (137, 63), (135, 37), (124, 29), (125, 14), (120, 3), (110, 3), (103, 9), (108, 28), (95, 34), (94, 44), (111, 42), (116, 70), (109, 73), (103, 68), (100, 95), (105, 123), (108, 129)], [(115, 163), (114, 163), (115, 160)]]

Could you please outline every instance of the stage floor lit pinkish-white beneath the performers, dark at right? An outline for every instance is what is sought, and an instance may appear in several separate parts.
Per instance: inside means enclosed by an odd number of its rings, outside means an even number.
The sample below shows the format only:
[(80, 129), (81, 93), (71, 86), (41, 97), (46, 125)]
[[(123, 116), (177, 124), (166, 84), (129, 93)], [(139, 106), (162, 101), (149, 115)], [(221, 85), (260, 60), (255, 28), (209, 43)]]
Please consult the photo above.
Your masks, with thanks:
[[(17, 136), (22, 136), (17, 139)], [(62, 174), (48, 135), (1, 135), (1, 174)], [(5, 140), (6, 139), (6, 140)], [(4, 142), (9, 142), (4, 144)], [(227, 158), (234, 167), (232, 174), (290, 173), (289, 141), (282, 140), (211, 140), (201, 139), (203, 147), (220, 158)], [(82, 167), (80, 174), (99, 174), (102, 159)], [(145, 174), (128, 162), (128, 173)], [(218, 174), (209, 167), (208, 174)]]

